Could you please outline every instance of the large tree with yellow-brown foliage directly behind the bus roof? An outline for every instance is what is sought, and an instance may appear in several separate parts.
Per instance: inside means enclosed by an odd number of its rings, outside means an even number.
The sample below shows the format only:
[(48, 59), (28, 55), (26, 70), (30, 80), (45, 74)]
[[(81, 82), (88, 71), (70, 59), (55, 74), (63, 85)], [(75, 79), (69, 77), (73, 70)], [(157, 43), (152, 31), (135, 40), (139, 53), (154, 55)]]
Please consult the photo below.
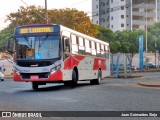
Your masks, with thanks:
[[(37, 14), (38, 13), (38, 14)], [(9, 27), (15, 28), (20, 25), (44, 24), (45, 19), (44, 8), (42, 7), (20, 7), (17, 12), (10, 13), (7, 20), (11, 22)], [(77, 30), (84, 34), (96, 37), (98, 31), (92, 25), (86, 13), (76, 9), (52, 9), (48, 10), (49, 23), (61, 24), (71, 29)]]

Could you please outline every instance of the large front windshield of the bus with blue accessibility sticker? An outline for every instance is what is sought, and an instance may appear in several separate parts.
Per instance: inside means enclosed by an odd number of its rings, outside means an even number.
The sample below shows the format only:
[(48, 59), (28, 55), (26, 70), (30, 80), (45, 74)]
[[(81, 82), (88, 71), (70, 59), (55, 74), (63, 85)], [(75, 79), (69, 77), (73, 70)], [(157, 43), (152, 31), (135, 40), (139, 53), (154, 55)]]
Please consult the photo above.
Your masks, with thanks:
[(52, 35), (21, 36), (16, 38), (17, 59), (41, 60), (59, 57), (60, 37)]

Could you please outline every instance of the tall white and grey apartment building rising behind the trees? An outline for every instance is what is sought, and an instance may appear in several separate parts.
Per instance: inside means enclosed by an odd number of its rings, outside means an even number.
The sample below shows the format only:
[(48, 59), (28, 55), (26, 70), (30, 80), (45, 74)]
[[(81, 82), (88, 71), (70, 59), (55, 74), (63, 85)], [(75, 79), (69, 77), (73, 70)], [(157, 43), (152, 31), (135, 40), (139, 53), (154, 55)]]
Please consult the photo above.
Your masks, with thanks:
[(92, 0), (92, 20), (113, 31), (145, 29), (160, 20), (160, 0)]

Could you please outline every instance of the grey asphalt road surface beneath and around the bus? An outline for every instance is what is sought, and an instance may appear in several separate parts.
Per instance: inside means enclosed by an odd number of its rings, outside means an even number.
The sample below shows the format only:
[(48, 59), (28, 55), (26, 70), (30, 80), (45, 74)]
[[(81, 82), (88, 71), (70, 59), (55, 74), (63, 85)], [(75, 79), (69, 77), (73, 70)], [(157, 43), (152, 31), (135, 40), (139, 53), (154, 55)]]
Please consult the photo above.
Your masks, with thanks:
[(136, 75), (143, 77), (107, 78), (101, 85), (82, 82), (74, 89), (63, 84), (48, 84), (40, 86), (38, 91), (32, 90), (31, 83), (6, 79), (0, 81), (0, 111), (160, 111), (160, 88), (147, 88), (137, 84), (138, 81), (159, 79), (159, 73)]

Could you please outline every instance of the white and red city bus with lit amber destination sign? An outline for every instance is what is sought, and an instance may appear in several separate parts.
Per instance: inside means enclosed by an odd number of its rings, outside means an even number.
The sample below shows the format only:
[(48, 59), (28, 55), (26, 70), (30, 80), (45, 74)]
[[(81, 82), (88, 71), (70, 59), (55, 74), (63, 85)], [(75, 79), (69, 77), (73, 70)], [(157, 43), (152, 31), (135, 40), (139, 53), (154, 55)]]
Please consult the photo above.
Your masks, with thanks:
[(110, 75), (107, 42), (57, 24), (19, 26), (13, 38), (13, 79), (32, 82), (33, 89), (55, 82), (99, 84)]

